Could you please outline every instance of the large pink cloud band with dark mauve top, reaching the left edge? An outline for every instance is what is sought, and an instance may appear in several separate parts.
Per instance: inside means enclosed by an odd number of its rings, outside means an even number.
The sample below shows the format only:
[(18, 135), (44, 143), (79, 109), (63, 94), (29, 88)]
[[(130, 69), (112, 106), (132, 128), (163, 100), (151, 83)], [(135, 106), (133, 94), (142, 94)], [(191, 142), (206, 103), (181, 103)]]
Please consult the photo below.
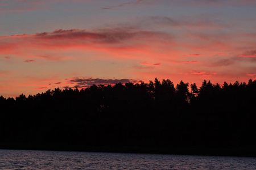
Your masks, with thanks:
[[(0, 37), (0, 54), (18, 54), (18, 57), (44, 58), (60, 60), (42, 52), (59, 50), (96, 50), (116, 53), (152, 53), (158, 49), (154, 46), (171, 45), (172, 36), (164, 32), (143, 31), (140, 29), (57, 29), (53, 32), (36, 33), (34, 35), (13, 35)], [(153, 48), (148, 48), (148, 45)], [(130, 55), (128, 56), (130, 57)]]

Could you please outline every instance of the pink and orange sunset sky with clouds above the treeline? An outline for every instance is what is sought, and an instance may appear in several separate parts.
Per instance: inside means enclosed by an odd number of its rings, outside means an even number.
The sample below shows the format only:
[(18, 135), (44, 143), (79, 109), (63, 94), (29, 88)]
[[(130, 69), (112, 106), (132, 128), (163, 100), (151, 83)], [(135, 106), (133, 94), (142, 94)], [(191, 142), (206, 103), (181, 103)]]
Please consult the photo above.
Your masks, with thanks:
[(256, 78), (255, 0), (0, 0), (0, 96)]

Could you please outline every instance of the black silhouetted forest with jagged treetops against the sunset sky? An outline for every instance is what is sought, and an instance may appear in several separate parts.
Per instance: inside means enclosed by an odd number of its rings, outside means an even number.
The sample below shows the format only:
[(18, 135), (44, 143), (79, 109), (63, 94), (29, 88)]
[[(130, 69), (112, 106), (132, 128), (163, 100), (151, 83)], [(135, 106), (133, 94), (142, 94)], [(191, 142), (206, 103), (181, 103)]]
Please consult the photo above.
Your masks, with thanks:
[(0, 144), (256, 147), (256, 80), (190, 87), (155, 78), (1, 96)]

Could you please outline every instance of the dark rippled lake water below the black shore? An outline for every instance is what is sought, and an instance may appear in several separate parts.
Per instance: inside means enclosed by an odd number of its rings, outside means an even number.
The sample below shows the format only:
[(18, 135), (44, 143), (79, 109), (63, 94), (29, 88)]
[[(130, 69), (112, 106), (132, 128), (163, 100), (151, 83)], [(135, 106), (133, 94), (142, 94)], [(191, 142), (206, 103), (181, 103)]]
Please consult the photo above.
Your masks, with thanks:
[(256, 158), (0, 150), (0, 169), (256, 169)]

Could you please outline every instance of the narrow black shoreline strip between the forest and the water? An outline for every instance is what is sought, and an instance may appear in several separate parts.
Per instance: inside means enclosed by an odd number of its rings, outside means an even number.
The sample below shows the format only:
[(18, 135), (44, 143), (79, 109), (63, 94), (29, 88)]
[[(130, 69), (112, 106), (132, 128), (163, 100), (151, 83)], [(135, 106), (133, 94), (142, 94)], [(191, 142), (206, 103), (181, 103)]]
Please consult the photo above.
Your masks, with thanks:
[(82, 146), (67, 144), (32, 145), (0, 143), (2, 150), (42, 150), (77, 152), (116, 152), (134, 154), (201, 155), (256, 157), (256, 147), (209, 148), (209, 147), (161, 147), (161, 146)]

